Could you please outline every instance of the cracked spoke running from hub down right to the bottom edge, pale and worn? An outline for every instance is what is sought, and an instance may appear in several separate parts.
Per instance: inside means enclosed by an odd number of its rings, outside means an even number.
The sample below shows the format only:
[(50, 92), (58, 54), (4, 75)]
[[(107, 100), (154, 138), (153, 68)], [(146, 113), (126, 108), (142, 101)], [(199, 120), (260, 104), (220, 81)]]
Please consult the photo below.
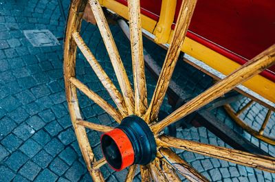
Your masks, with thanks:
[(159, 148), (158, 154), (162, 160), (166, 161), (168, 165), (170, 165), (174, 170), (179, 172), (189, 181), (208, 181), (206, 177), (199, 174), (195, 168), (192, 168), (186, 161), (181, 159), (175, 152), (170, 150), (169, 148)]

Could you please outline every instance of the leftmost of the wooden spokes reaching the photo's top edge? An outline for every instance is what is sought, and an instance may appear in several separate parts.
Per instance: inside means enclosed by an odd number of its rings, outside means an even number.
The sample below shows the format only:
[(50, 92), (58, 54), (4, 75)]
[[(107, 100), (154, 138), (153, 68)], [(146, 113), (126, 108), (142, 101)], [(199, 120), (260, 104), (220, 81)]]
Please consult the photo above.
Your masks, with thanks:
[(120, 54), (118, 53), (118, 48), (115, 46), (115, 41), (113, 40), (111, 30), (104, 16), (100, 3), (98, 2), (98, 0), (89, 0), (89, 4), (91, 5), (91, 10), (94, 13), (96, 23), (98, 24), (98, 28), (100, 30), (100, 34), (103, 38), (105, 47), (113, 65), (115, 75), (118, 78), (118, 83), (120, 84), (120, 89), (122, 90), (122, 95), (128, 108), (128, 114), (131, 115), (133, 114), (135, 107), (133, 90), (131, 88), (129, 78), (126, 75), (126, 71), (120, 58)]

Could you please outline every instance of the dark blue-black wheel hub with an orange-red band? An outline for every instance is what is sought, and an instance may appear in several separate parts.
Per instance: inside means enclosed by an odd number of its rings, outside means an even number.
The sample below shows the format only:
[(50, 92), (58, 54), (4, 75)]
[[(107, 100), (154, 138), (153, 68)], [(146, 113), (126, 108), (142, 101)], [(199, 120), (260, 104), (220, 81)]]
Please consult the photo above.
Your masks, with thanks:
[(148, 124), (140, 117), (125, 117), (115, 129), (101, 136), (107, 163), (116, 171), (132, 164), (146, 165), (155, 159), (157, 145)]

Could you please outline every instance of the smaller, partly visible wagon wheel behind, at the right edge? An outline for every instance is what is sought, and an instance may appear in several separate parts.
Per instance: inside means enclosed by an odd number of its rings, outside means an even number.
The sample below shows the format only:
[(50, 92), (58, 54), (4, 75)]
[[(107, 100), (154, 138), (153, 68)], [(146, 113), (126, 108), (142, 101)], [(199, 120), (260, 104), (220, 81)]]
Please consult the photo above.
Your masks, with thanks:
[(275, 138), (264, 134), (264, 130), (267, 126), (267, 123), (270, 122), (270, 117), (272, 116), (272, 113), (274, 113), (273, 107), (267, 109), (265, 119), (261, 124), (261, 128), (252, 128), (252, 126), (245, 122), (245, 120), (243, 120), (241, 117), (241, 114), (247, 114), (250, 111), (250, 107), (252, 107), (252, 104), (254, 104), (255, 102), (256, 101), (254, 101), (253, 99), (250, 99), (249, 102), (245, 103), (244, 106), (241, 105), (239, 109), (236, 111), (232, 108), (231, 104), (225, 104), (223, 107), (225, 111), (230, 115), (230, 117), (236, 122), (236, 124), (239, 124), (239, 126), (241, 126), (241, 128), (246, 130), (248, 133), (250, 133), (257, 139), (261, 139), (262, 141), (265, 141), (268, 144), (275, 145)]

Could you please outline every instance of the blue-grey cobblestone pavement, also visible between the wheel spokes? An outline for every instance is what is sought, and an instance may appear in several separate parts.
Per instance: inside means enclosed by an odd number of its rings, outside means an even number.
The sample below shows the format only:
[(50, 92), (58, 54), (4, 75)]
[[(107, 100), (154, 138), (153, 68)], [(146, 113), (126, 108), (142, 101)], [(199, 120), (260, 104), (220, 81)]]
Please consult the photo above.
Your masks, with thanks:
[[(66, 9), (68, 3), (69, 1), (64, 1)], [(56, 0), (0, 0), (1, 182), (91, 181), (67, 111), (62, 46), (33, 47), (23, 34), (23, 30), (50, 30), (62, 44), (64, 21), (57, 4)], [(111, 30), (115, 35), (126, 71), (132, 78), (129, 42), (117, 25), (111, 25)], [(83, 23), (81, 34), (102, 67), (118, 85), (98, 29), (94, 25)], [(144, 46), (161, 65), (165, 51), (146, 40)], [(85, 58), (79, 53), (76, 72), (80, 80), (111, 102)], [(178, 63), (173, 79), (194, 95), (212, 83), (208, 76), (184, 62)], [(148, 71), (146, 81), (150, 98), (155, 80)], [(113, 120), (96, 104), (82, 93), (78, 95), (85, 120), (115, 126)], [(167, 100), (164, 101), (162, 109), (170, 109)], [(248, 120), (254, 121), (253, 124), (257, 126), (265, 112), (265, 109), (256, 104), (252, 114), (243, 117), (248, 117)], [(274, 146), (243, 132), (223, 109), (215, 109), (213, 113), (245, 138), (275, 156)], [(272, 115), (272, 120), (274, 119)], [(270, 132), (274, 133), (274, 128), (271, 125), (268, 127)], [(100, 159), (100, 134), (91, 130), (87, 132), (96, 157)], [(177, 134), (186, 139), (229, 147), (203, 127), (179, 129)], [(275, 181), (275, 175), (268, 172), (203, 157), (192, 152), (177, 150), (177, 153), (210, 181)], [(126, 175), (126, 170), (114, 172), (106, 165), (102, 167), (102, 172), (107, 181), (124, 181)], [(140, 181), (138, 172), (135, 181)]]

